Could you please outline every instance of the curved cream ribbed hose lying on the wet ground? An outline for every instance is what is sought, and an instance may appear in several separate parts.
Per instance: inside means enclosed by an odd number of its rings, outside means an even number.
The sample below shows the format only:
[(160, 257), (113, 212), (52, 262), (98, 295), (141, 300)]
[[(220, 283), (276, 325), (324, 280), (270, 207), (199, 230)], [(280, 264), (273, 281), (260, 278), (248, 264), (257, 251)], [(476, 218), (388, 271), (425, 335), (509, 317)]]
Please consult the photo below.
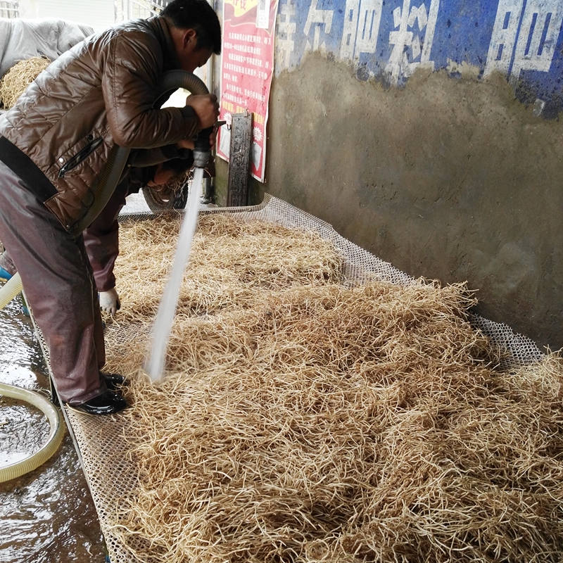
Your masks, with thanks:
[(15, 479), (16, 477), (20, 477), (37, 469), (39, 465), (49, 460), (49, 457), (51, 457), (51, 455), (58, 450), (58, 446), (61, 445), (63, 435), (65, 434), (65, 425), (61, 419), (61, 414), (53, 403), (44, 396), (39, 395), (36, 391), (0, 383), (0, 395), (23, 400), (25, 403), (30, 403), (30, 405), (37, 407), (47, 417), (49, 425), (51, 426), (46, 442), (36, 453), (30, 455), (30, 457), (26, 457), (25, 460), (0, 467), (0, 483), (4, 483), (4, 481), (11, 481), (11, 479)]

